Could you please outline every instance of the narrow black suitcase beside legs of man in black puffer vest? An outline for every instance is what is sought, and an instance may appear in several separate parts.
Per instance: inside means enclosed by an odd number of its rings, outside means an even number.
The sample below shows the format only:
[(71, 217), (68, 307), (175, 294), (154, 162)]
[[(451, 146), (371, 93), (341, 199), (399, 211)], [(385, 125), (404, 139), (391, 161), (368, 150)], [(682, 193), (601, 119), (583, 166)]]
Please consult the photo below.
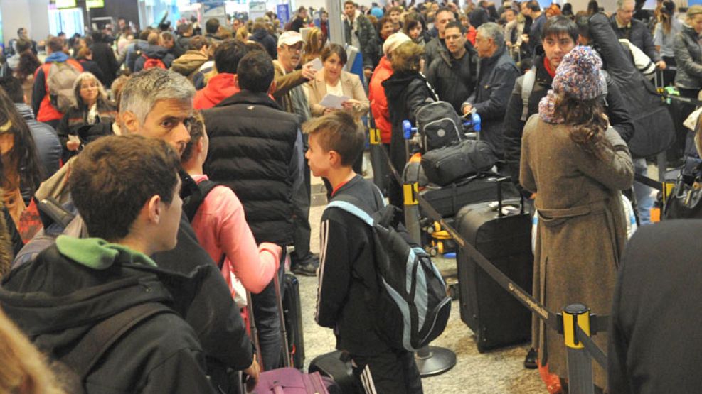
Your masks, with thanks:
[(283, 316), (287, 332), (290, 361), (294, 368), (304, 366), (304, 334), (302, 330), (302, 305), (300, 284), (295, 275), (286, 273), (283, 278)]

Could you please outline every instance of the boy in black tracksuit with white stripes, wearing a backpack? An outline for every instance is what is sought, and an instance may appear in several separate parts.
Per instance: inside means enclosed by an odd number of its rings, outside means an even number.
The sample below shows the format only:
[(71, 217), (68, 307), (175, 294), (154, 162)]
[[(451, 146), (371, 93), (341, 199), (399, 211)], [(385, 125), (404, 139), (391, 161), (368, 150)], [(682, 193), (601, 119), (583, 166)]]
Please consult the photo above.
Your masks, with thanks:
[[(331, 183), (331, 199), (351, 195), (365, 205), (361, 209), (366, 212), (381, 209), (381, 192), (351, 168), (364, 143), (353, 117), (336, 111), (304, 128), (309, 134), (305, 158), (315, 176)], [(393, 349), (373, 327), (368, 306), (378, 292), (378, 280), (370, 227), (332, 207), (321, 217), (320, 234), (317, 324), (334, 329), (336, 349), (351, 357), (353, 374), (364, 393), (422, 393), (413, 353)]]

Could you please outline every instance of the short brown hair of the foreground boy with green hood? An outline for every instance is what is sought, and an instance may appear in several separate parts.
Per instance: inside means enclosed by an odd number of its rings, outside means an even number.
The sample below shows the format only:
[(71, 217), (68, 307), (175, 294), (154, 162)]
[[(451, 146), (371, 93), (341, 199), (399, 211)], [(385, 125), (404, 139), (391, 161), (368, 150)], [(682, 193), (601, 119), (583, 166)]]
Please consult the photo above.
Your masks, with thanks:
[(179, 168), (178, 154), (159, 139), (107, 136), (88, 144), (68, 180), (88, 234), (123, 239), (151, 197), (171, 204)]

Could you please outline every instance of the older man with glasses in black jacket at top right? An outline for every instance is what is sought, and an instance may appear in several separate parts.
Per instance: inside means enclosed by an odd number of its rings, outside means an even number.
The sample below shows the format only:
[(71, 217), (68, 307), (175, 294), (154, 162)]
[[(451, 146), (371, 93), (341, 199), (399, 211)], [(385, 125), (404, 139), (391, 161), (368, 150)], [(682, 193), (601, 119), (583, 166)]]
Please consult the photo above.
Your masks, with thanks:
[(612, 28), (615, 29), (617, 38), (629, 40), (643, 50), (656, 63), (656, 67), (664, 70), (666, 62), (661, 58), (661, 53), (656, 50), (649, 28), (642, 21), (633, 18), (634, 6), (634, 0), (617, 0), (617, 12), (610, 18)]

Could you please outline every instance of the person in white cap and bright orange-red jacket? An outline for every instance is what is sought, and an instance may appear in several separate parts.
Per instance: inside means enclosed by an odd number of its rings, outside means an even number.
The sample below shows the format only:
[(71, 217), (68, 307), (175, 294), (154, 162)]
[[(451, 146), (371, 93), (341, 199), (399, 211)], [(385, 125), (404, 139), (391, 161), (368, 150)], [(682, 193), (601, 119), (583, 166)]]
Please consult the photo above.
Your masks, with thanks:
[(390, 134), (392, 132), (392, 124), (390, 124), (390, 112), (388, 111), (388, 98), (385, 97), (385, 89), (383, 81), (387, 80), (390, 75), (393, 75), (393, 67), (390, 65), (390, 57), (393, 50), (398, 48), (403, 43), (412, 40), (405, 33), (395, 33), (390, 35), (383, 44), (383, 57), (378, 62), (378, 67), (373, 71), (371, 83), (368, 85), (368, 99), (371, 101), (371, 111), (373, 119), (376, 121), (376, 127), (381, 131), (381, 141), (385, 145), (390, 144)]

